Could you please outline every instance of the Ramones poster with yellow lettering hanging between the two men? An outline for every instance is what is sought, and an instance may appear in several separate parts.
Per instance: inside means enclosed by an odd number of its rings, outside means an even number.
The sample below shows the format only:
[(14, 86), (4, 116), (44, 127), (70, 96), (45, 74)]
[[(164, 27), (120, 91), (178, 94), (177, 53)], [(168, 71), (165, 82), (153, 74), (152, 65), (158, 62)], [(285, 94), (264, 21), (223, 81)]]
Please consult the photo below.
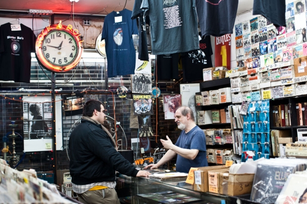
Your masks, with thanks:
[(153, 115), (152, 95), (133, 94), (134, 115)]

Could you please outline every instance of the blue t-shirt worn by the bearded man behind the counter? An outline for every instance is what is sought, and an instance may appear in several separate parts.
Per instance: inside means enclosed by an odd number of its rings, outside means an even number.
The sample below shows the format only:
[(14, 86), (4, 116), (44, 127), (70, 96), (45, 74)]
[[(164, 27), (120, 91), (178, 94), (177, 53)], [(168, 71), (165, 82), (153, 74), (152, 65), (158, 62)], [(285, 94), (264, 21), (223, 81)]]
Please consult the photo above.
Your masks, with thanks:
[(184, 149), (199, 150), (194, 160), (189, 160), (177, 155), (176, 171), (188, 173), (191, 167), (208, 165), (205, 148), (205, 133), (199, 126), (195, 126), (188, 133), (182, 130), (175, 145)]

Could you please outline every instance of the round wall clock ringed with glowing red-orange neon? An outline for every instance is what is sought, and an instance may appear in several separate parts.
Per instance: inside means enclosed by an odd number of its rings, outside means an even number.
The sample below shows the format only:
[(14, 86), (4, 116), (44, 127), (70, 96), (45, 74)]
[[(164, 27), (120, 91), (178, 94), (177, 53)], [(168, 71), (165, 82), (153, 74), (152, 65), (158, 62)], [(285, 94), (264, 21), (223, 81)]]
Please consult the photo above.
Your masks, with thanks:
[(35, 50), (41, 65), (54, 72), (74, 68), (83, 51), (78, 30), (71, 25), (55, 24), (46, 27), (37, 37)]

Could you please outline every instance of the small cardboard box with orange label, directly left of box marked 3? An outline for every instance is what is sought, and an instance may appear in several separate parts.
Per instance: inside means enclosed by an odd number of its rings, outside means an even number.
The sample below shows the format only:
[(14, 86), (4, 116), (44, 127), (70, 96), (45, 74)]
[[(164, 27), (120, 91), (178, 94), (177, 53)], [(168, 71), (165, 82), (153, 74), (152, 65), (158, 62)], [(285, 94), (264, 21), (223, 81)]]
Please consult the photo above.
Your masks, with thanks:
[(220, 179), (222, 178), (223, 174), (228, 172), (229, 169), (214, 169), (208, 171), (208, 192), (210, 193), (221, 193), (223, 190), (221, 189), (221, 182)]

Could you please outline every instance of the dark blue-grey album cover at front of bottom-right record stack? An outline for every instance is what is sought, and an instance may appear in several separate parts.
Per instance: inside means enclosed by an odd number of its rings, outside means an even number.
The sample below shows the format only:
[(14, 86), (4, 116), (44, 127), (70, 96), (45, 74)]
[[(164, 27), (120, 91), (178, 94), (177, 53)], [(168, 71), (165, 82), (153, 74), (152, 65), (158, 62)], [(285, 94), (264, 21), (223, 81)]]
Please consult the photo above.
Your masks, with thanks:
[(294, 171), (294, 166), (258, 164), (251, 200), (265, 204), (275, 203), (288, 175)]

